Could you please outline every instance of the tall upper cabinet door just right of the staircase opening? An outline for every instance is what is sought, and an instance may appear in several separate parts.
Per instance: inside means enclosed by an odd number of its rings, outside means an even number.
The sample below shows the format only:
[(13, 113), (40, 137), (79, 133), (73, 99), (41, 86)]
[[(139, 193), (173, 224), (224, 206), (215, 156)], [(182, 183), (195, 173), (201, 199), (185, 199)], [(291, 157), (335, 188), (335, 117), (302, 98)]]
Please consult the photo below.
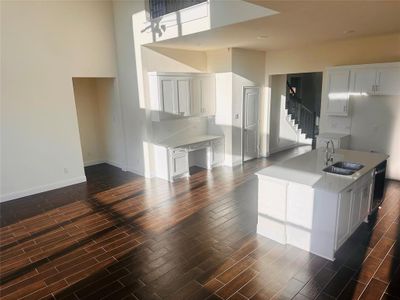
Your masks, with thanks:
[(329, 115), (347, 116), (349, 105), (350, 70), (328, 71)]

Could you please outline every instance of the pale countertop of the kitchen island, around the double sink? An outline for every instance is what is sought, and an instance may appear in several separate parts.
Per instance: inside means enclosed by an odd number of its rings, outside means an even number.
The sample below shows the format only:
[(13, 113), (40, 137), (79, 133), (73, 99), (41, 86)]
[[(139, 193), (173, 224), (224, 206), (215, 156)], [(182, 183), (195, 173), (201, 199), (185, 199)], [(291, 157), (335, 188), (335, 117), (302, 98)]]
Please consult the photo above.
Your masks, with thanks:
[(334, 154), (333, 163), (330, 164), (347, 161), (364, 165), (353, 175), (342, 176), (322, 171), (326, 165), (325, 149), (321, 148), (262, 169), (256, 175), (304, 184), (318, 190), (340, 192), (388, 157), (382, 153), (338, 149)]

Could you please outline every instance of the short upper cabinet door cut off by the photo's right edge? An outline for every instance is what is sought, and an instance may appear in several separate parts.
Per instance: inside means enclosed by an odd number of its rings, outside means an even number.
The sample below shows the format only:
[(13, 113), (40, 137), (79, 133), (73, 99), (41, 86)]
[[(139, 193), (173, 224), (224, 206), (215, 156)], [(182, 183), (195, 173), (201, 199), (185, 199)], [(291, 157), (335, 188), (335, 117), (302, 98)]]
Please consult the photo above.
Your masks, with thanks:
[(400, 95), (400, 67), (378, 69), (378, 80), (375, 94)]

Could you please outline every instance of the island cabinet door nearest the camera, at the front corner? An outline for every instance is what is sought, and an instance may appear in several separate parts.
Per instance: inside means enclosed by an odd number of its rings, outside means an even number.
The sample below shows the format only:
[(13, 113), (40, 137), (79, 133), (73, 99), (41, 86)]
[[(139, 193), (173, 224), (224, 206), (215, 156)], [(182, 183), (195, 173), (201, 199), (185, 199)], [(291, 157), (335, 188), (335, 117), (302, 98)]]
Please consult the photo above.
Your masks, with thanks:
[(343, 191), (339, 194), (339, 208), (337, 218), (337, 231), (336, 231), (336, 249), (338, 249), (350, 232), (350, 212), (351, 212), (351, 200), (353, 197), (353, 189)]

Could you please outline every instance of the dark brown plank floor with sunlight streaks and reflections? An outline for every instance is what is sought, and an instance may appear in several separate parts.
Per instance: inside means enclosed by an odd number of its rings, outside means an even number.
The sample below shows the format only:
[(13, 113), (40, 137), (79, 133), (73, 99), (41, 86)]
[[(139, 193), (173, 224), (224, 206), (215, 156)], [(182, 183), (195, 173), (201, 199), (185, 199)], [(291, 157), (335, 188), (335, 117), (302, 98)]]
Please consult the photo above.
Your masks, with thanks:
[(400, 299), (400, 182), (334, 262), (256, 234), (254, 173), (304, 151), (174, 184), (102, 164), (2, 203), (1, 299)]

